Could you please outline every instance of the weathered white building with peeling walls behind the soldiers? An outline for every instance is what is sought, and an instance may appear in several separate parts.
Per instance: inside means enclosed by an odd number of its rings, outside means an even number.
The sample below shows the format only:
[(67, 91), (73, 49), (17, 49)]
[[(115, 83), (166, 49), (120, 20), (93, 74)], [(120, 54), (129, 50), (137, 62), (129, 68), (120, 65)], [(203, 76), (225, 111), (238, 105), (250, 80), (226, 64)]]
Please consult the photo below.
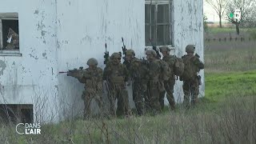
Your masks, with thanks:
[[(81, 116), (83, 85), (58, 72), (87, 67), (92, 57), (104, 68), (105, 43), (110, 54), (121, 51), (122, 37), (140, 58), (149, 38), (179, 57), (194, 44), (203, 58), (202, 6), (200, 0), (1, 0), (1, 116), (26, 122)], [(200, 90), (204, 95), (204, 83)]]

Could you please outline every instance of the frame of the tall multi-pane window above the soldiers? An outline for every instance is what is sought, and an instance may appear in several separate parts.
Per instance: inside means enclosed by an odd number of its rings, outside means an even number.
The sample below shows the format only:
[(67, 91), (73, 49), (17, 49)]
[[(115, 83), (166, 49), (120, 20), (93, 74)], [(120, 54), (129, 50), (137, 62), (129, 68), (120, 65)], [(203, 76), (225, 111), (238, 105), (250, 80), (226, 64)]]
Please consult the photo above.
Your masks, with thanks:
[[(164, 46), (168, 46), (170, 47), (170, 49), (174, 50), (174, 42), (173, 42), (173, 18), (174, 18), (174, 14), (173, 14), (173, 1), (172, 0), (146, 0), (145, 1), (145, 6), (146, 5), (150, 5), (150, 23), (146, 23), (146, 19), (145, 19), (145, 28), (146, 26), (150, 26), (150, 37), (154, 38), (154, 43), (156, 43), (157, 41), (157, 35), (158, 35), (158, 26), (169, 26), (169, 36), (170, 36), (170, 45), (164, 45)], [(151, 20), (151, 10), (152, 10), (152, 5), (155, 6), (155, 11), (154, 11), (154, 17), (155, 17), (155, 22), (152, 23)], [(162, 22), (162, 23), (158, 23), (158, 5), (168, 5), (169, 7), (169, 22)], [(152, 32), (151, 32), (151, 26), (155, 26), (155, 36), (152, 37)], [(145, 32), (146, 34), (146, 32)], [(145, 35), (146, 36), (146, 35)], [(152, 48), (152, 46), (149, 44), (146, 44), (145, 42), (145, 46), (146, 48)], [(162, 45), (157, 45), (157, 48), (161, 47)]]

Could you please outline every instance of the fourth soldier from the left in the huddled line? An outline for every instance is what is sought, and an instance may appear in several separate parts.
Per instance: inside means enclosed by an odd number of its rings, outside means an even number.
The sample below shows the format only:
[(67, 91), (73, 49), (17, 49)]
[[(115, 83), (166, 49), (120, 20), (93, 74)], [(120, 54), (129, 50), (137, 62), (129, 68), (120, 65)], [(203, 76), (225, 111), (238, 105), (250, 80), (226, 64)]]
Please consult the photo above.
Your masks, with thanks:
[(148, 60), (149, 69), (149, 83), (148, 83), (148, 94), (146, 95), (146, 108), (151, 109), (153, 114), (158, 114), (161, 111), (159, 103), (159, 94), (164, 90), (163, 80), (167, 80), (167, 74), (170, 73), (163, 66), (163, 63), (156, 58), (157, 54), (154, 50), (146, 50), (146, 58)]

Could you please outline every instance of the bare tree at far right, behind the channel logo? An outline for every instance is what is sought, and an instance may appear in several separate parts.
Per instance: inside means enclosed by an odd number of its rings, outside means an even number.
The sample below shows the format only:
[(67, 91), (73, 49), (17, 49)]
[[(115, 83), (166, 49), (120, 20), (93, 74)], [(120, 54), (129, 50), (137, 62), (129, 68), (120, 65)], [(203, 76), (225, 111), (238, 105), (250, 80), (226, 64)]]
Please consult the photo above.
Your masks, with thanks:
[(226, 14), (234, 13), (235, 9), (241, 11), (241, 19), (235, 19), (227, 17), (228, 20), (234, 23), (236, 27), (237, 34), (239, 35), (239, 26), (240, 24), (249, 24), (250, 26), (255, 25), (255, 15), (256, 15), (256, 0), (230, 0), (227, 8)]

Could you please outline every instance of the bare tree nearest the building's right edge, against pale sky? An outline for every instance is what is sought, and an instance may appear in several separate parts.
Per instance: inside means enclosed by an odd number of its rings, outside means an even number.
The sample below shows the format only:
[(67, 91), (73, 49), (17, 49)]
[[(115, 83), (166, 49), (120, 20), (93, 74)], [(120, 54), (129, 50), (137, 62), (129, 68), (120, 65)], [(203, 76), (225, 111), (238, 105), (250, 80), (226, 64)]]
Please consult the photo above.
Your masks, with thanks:
[(222, 28), (222, 17), (226, 12), (228, 0), (206, 0), (206, 2), (216, 11), (219, 18), (219, 27)]

